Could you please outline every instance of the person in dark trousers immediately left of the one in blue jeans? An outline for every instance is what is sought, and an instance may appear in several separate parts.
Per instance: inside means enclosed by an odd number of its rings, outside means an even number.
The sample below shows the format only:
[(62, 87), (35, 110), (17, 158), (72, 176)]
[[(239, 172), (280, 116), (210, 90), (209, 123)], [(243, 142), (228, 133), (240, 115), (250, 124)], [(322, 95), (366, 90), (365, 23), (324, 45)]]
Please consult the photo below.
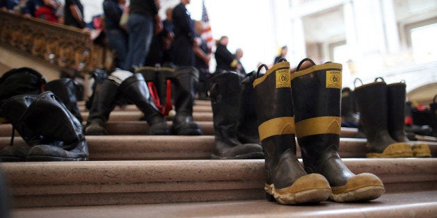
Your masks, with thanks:
[(106, 40), (111, 49), (116, 51), (115, 67), (122, 69), (127, 56), (127, 31), (120, 26), (120, 18), (126, 8), (126, 0), (104, 0), (104, 24)]

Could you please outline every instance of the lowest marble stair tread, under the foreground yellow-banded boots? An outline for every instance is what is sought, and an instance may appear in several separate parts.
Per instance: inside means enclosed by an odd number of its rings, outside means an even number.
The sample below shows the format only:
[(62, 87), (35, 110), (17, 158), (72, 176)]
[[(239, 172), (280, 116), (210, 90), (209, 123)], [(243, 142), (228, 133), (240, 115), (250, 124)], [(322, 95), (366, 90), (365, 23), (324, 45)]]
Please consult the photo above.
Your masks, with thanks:
[(264, 199), (150, 203), (120, 206), (15, 208), (11, 217), (434, 217), (437, 190), (386, 193), (363, 203), (322, 201), (314, 205), (282, 206)]

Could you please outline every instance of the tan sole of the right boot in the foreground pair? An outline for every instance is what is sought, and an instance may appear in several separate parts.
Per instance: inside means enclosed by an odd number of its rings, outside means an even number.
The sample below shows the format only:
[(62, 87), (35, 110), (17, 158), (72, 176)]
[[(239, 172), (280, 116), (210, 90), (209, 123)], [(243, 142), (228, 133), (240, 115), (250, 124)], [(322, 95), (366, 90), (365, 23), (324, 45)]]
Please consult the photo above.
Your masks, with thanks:
[(370, 201), (379, 198), (384, 192), (386, 192), (384, 187), (368, 186), (342, 194), (331, 194), (329, 199), (335, 202)]

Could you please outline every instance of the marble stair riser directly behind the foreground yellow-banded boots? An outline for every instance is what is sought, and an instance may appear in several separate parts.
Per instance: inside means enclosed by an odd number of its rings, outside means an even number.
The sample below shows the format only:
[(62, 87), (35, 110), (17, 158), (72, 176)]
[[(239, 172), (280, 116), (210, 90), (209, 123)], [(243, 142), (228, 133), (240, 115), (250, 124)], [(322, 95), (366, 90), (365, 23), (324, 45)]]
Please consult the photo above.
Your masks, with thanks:
[[(347, 158), (386, 191), (437, 190), (436, 158)], [(264, 199), (264, 160), (4, 162), (15, 208)]]

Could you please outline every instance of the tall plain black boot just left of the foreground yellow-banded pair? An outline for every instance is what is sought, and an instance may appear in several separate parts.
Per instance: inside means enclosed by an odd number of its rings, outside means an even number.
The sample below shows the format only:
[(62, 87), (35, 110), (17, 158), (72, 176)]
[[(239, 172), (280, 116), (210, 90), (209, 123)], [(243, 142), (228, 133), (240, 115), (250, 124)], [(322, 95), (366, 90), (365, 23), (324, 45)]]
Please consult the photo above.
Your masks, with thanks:
[(243, 144), (237, 138), (237, 120), (241, 106), (240, 78), (224, 72), (211, 78), (211, 106), (216, 149), (213, 159), (264, 158), (260, 144)]

